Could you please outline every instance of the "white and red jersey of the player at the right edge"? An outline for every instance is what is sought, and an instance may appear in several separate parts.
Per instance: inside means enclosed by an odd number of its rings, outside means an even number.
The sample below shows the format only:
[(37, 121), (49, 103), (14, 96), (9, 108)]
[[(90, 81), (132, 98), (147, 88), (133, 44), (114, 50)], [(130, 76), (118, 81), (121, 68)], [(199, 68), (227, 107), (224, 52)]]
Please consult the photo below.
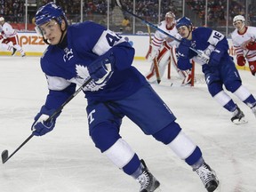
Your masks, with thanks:
[(248, 61), (256, 60), (256, 50), (249, 51), (243, 48), (243, 44), (252, 40), (256, 41), (256, 28), (246, 26), (244, 34), (239, 34), (237, 29), (231, 34), (232, 42), (236, 50), (236, 55), (244, 55)]

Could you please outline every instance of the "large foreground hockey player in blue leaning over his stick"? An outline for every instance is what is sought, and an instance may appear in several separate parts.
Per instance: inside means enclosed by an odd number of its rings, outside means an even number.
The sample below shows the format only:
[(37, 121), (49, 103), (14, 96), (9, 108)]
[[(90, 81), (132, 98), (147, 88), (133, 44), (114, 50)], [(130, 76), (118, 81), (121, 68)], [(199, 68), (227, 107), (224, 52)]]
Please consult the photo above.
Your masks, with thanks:
[(218, 187), (219, 180), (204, 162), (200, 148), (182, 132), (145, 77), (132, 67), (134, 49), (123, 37), (91, 21), (68, 26), (65, 13), (54, 3), (36, 12), (36, 31), (49, 44), (41, 58), (49, 93), (31, 127), (34, 135), (51, 132), (57, 116), (51, 122), (45, 120), (75, 92), (76, 85), (92, 77), (84, 88), (89, 134), (102, 154), (140, 183), (140, 192), (153, 192), (160, 182), (120, 136), (124, 116), (190, 165), (207, 191)]

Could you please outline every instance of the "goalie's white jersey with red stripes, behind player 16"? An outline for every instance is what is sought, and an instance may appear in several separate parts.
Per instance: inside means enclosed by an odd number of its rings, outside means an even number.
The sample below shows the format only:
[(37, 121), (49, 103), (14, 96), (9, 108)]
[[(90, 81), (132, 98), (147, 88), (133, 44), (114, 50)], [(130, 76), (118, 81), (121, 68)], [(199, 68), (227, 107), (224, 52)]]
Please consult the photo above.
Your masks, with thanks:
[[(162, 30), (164, 30), (166, 33), (170, 34), (171, 36), (174, 36), (178, 39), (181, 38), (180, 34), (178, 33), (178, 30), (176, 28), (176, 25), (174, 24), (171, 28), (166, 28), (166, 21), (163, 20), (161, 21), (157, 28), (161, 28)], [(164, 33), (156, 30), (155, 36), (152, 40), (152, 46), (153, 49), (159, 49), (160, 46), (163, 44), (163, 42), (166, 41), (166, 43), (170, 46), (178, 46), (179, 42), (177, 42), (176, 40), (173, 40), (171, 37), (166, 36)]]

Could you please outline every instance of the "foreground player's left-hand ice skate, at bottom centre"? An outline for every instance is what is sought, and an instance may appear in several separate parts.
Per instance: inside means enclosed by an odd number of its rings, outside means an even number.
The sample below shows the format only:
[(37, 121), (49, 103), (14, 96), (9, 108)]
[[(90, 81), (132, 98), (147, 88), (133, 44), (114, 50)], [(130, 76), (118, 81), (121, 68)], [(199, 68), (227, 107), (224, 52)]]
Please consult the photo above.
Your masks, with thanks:
[(160, 182), (148, 171), (148, 167), (142, 159), (140, 162), (143, 164), (143, 169), (140, 176), (136, 179), (140, 183), (140, 192), (156, 191), (156, 188), (160, 186)]

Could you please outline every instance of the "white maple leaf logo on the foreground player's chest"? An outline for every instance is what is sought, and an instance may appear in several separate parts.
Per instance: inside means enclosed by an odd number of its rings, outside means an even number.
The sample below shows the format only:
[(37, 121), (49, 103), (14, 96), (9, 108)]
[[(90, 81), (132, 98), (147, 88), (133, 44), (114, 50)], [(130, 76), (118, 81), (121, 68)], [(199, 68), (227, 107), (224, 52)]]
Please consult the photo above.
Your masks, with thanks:
[[(82, 86), (84, 82), (87, 81), (89, 78), (90, 74), (88, 68), (83, 65), (76, 64), (76, 77), (70, 79), (70, 81), (79, 86)], [(96, 92), (100, 89), (103, 89), (103, 86), (105, 85), (106, 82), (103, 82), (102, 84), (95, 84), (95, 82), (92, 80), (91, 83), (87, 84), (84, 87), (84, 91)]]

